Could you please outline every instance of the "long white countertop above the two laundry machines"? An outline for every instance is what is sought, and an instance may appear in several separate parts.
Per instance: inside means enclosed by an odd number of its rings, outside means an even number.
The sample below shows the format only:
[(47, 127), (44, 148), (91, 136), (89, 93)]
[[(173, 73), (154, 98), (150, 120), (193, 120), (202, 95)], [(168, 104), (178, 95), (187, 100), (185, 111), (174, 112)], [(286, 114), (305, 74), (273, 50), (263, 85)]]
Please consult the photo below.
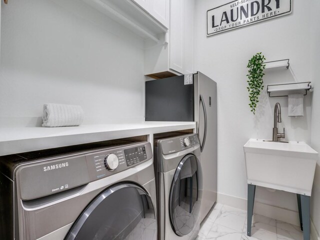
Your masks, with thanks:
[(195, 122), (144, 121), (64, 127), (0, 127), (0, 155), (195, 128)]

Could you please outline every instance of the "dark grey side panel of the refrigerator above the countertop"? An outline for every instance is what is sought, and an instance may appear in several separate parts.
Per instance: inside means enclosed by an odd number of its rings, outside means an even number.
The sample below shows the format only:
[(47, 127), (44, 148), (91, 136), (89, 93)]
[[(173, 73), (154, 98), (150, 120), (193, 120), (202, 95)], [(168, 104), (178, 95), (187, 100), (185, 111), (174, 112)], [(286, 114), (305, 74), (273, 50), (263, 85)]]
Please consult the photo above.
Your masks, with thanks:
[(146, 121), (194, 121), (193, 84), (184, 76), (145, 82)]

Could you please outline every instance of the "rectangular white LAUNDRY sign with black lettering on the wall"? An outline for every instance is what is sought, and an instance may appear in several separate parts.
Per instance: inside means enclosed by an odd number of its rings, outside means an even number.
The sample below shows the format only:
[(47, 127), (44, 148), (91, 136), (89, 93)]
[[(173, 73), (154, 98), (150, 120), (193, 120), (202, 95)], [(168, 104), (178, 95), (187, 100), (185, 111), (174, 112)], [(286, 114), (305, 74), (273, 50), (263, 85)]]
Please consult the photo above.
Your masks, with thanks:
[(206, 35), (210, 36), (267, 20), (273, 17), (290, 14), (291, 0), (235, 0), (207, 10)]

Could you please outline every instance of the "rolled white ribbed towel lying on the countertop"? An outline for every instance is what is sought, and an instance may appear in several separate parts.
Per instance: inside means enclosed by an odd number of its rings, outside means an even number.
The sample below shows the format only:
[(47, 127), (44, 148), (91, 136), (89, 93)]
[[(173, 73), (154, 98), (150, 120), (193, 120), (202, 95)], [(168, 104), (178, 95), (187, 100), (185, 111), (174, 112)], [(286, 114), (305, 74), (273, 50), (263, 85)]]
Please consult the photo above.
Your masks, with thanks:
[(78, 105), (43, 104), (42, 126), (78, 126), (83, 121), (83, 110)]

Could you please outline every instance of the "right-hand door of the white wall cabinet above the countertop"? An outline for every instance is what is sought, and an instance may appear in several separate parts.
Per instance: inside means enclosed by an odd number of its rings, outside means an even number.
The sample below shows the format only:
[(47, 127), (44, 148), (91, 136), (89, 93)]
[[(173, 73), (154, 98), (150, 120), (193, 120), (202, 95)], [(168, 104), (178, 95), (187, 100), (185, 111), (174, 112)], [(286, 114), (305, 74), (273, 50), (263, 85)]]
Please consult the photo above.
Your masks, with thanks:
[(170, 0), (150, 0), (150, 14), (166, 28), (169, 27)]

